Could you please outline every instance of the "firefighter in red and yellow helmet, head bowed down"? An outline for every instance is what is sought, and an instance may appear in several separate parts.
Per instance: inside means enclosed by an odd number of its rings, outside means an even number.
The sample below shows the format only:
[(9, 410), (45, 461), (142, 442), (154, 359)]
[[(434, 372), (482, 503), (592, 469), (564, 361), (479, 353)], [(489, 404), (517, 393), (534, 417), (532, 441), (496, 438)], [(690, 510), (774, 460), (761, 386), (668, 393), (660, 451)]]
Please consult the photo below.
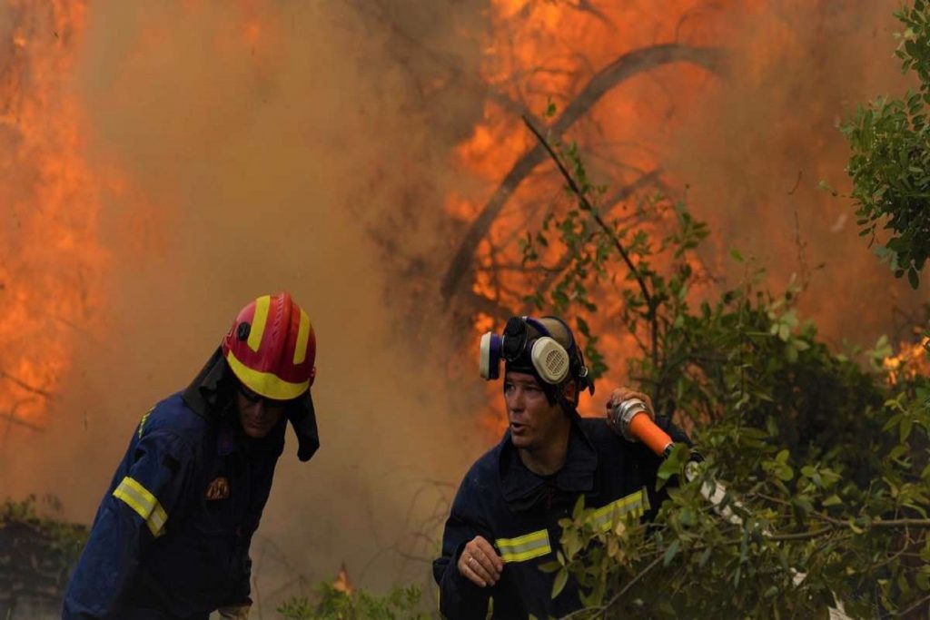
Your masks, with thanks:
[(239, 312), (187, 389), (142, 416), (100, 502), (63, 618), (246, 618), (248, 549), (287, 421), (319, 447), (310, 317), (287, 293)]

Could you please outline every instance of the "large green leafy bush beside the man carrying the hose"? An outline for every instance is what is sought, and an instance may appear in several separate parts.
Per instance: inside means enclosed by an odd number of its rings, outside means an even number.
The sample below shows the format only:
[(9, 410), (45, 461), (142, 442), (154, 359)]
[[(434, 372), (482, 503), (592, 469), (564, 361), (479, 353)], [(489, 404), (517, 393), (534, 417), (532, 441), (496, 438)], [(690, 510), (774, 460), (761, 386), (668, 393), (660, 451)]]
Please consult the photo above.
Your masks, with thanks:
[[(577, 150), (562, 156), (587, 179)], [(689, 481), (670, 485), (653, 523), (594, 531), (580, 505), (563, 523), (546, 569), (556, 590), (570, 578), (583, 590), (573, 617), (817, 618), (838, 601), (854, 617), (923, 609), (930, 381), (892, 385), (880, 364), (834, 354), (799, 316), (801, 287), (764, 290), (764, 271), (736, 251), (742, 281), (719, 297), (701, 289), (693, 251), (708, 231), (684, 204), (640, 206), (663, 210), (671, 230), (656, 240), (605, 221), (600, 188), (575, 187), (578, 208), (527, 236), (525, 263), (540, 239), (572, 248), (559, 281), (571, 295), (556, 287), (551, 303), (579, 325), (600, 311), (588, 291), (627, 270), (618, 320), (641, 349), (630, 376), (678, 416), (703, 460), (682, 446), (660, 468), (660, 484)], [(870, 355), (891, 352), (885, 340)]]

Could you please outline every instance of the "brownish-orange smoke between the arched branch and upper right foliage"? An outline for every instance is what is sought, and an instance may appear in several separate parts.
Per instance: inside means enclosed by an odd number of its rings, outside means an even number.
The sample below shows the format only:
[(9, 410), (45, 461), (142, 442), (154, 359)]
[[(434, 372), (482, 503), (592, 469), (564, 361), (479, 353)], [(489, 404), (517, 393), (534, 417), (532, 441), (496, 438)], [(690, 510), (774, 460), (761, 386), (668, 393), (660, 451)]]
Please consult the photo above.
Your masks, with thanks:
[(850, 201), (818, 188), (824, 180), (849, 191), (841, 121), (909, 86), (893, 55), (898, 5), (773, 0), (749, 11), (732, 29), (724, 78), (685, 112), (662, 155), (711, 223), (704, 258), (724, 285), (744, 271), (731, 248), (756, 257), (774, 290), (796, 274), (809, 284), (802, 313), (836, 345), (906, 337), (927, 299), (879, 264)]

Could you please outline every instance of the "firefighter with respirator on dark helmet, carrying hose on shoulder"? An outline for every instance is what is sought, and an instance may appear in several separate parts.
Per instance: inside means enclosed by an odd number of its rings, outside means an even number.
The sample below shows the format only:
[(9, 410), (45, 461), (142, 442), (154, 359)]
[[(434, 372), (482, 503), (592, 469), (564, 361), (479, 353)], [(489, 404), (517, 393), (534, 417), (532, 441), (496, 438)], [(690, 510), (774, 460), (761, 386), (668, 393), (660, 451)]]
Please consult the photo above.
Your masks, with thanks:
[[(651, 518), (660, 457), (642, 443), (621, 439), (606, 418), (578, 416), (578, 396), (594, 385), (571, 329), (557, 317), (512, 317), (503, 336), (485, 334), (480, 371), (496, 379), (505, 361), (503, 391), (509, 426), (458, 487), (445, 521), (442, 556), (433, 561), (440, 612), (448, 620), (562, 617), (581, 607), (571, 580), (553, 600), (552, 561), (579, 495), (597, 508), (595, 525)], [(649, 397), (615, 389), (619, 402)], [(659, 425), (674, 441), (679, 429)]]

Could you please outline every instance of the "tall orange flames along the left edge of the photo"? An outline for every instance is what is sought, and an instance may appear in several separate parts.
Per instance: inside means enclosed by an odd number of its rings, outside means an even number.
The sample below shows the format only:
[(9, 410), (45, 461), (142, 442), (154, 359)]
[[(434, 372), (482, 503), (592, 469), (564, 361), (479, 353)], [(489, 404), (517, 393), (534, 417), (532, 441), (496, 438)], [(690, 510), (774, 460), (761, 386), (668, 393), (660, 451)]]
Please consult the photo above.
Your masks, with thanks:
[[(98, 184), (81, 157), (67, 79), (86, 23), (77, 0), (11, 0), (0, 31), (0, 422), (42, 429), (106, 263)], [(2, 44), (0, 44), (2, 45)]]

